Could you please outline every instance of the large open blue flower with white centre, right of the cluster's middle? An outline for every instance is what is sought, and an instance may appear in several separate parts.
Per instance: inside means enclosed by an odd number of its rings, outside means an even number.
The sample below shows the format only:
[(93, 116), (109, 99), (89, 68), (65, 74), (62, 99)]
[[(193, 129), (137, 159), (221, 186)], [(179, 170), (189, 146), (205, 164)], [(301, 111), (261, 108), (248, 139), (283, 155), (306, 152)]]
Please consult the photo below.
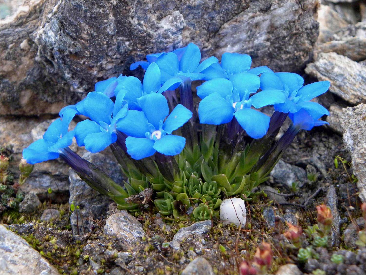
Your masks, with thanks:
[(231, 80), (214, 78), (197, 87), (197, 95), (202, 99), (198, 106), (200, 123), (219, 125), (228, 123), (235, 116), (240, 126), (253, 138), (264, 136), (269, 127), (269, 116), (251, 109), (283, 103), (283, 91), (261, 91), (251, 96), (259, 88), (259, 77), (250, 73), (236, 73)]

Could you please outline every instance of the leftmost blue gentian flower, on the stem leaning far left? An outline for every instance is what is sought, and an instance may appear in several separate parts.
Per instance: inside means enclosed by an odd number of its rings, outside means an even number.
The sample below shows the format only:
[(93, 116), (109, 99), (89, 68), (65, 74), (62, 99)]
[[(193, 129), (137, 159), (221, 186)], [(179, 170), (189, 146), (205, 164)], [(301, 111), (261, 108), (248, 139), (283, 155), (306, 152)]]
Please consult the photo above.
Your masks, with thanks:
[[(43, 135), (43, 139), (38, 139), (23, 150), (23, 158), (29, 164), (55, 159), (62, 154), (63, 149), (70, 146), (74, 131), (68, 132), (66, 120), (60, 118), (53, 121)], [(65, 131), (66, 129), (66, 131)]]

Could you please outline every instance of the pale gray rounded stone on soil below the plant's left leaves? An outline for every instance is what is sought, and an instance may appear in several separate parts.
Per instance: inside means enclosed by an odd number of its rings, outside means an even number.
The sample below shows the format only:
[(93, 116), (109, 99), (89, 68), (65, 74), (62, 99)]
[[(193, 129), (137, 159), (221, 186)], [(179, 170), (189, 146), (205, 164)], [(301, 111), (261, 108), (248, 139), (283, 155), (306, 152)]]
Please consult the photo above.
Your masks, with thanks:
[(129, 245), (135, 245), (145, 236), (141, 223), (126, 210), (109, 216), (105, 220), (104, 232), (107, 235), (116, 236)]

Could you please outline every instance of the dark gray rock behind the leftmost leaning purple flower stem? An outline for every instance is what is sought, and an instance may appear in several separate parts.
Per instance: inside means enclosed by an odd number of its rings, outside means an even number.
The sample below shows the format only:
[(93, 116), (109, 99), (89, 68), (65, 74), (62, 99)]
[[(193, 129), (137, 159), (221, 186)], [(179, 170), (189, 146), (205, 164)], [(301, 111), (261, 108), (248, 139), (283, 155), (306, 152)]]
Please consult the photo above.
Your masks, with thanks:
[[(86, 152), (82, 157), (104, 170), (116, 183), (123, 184), (124, 176), (119, 165), (112, 158), (101, 153), (92, 154), (90, 152)], [(80, 210), (71, 214), (72, 232), (75, 235), (84, 234), (84, 232), (90, 231), (93, 224), (91, 219), (98, 219), (107, 213), (111, 199), (87, 185), (72, 169), (69, 170), (69, 181), (69, 203), (74, 203), (75, 206), (80, 208)], [(88, 217), (90, 219), (87, 219)]]

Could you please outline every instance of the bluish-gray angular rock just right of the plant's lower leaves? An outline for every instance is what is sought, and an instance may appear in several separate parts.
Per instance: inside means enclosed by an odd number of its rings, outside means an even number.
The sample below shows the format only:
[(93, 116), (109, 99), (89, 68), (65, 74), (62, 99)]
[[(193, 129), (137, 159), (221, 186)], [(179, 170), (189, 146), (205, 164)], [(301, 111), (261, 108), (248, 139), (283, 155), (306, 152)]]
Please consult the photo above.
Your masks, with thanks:
[(283, 160), (279, 160), (273, 170), (270, 172), (276, 183), (283, 184), (287, 187), (292, 187), (292, 183), (297, 181), (298, 186), (302, 187), (307, 181), (306, 172), (304, 169), (288, 164)]

